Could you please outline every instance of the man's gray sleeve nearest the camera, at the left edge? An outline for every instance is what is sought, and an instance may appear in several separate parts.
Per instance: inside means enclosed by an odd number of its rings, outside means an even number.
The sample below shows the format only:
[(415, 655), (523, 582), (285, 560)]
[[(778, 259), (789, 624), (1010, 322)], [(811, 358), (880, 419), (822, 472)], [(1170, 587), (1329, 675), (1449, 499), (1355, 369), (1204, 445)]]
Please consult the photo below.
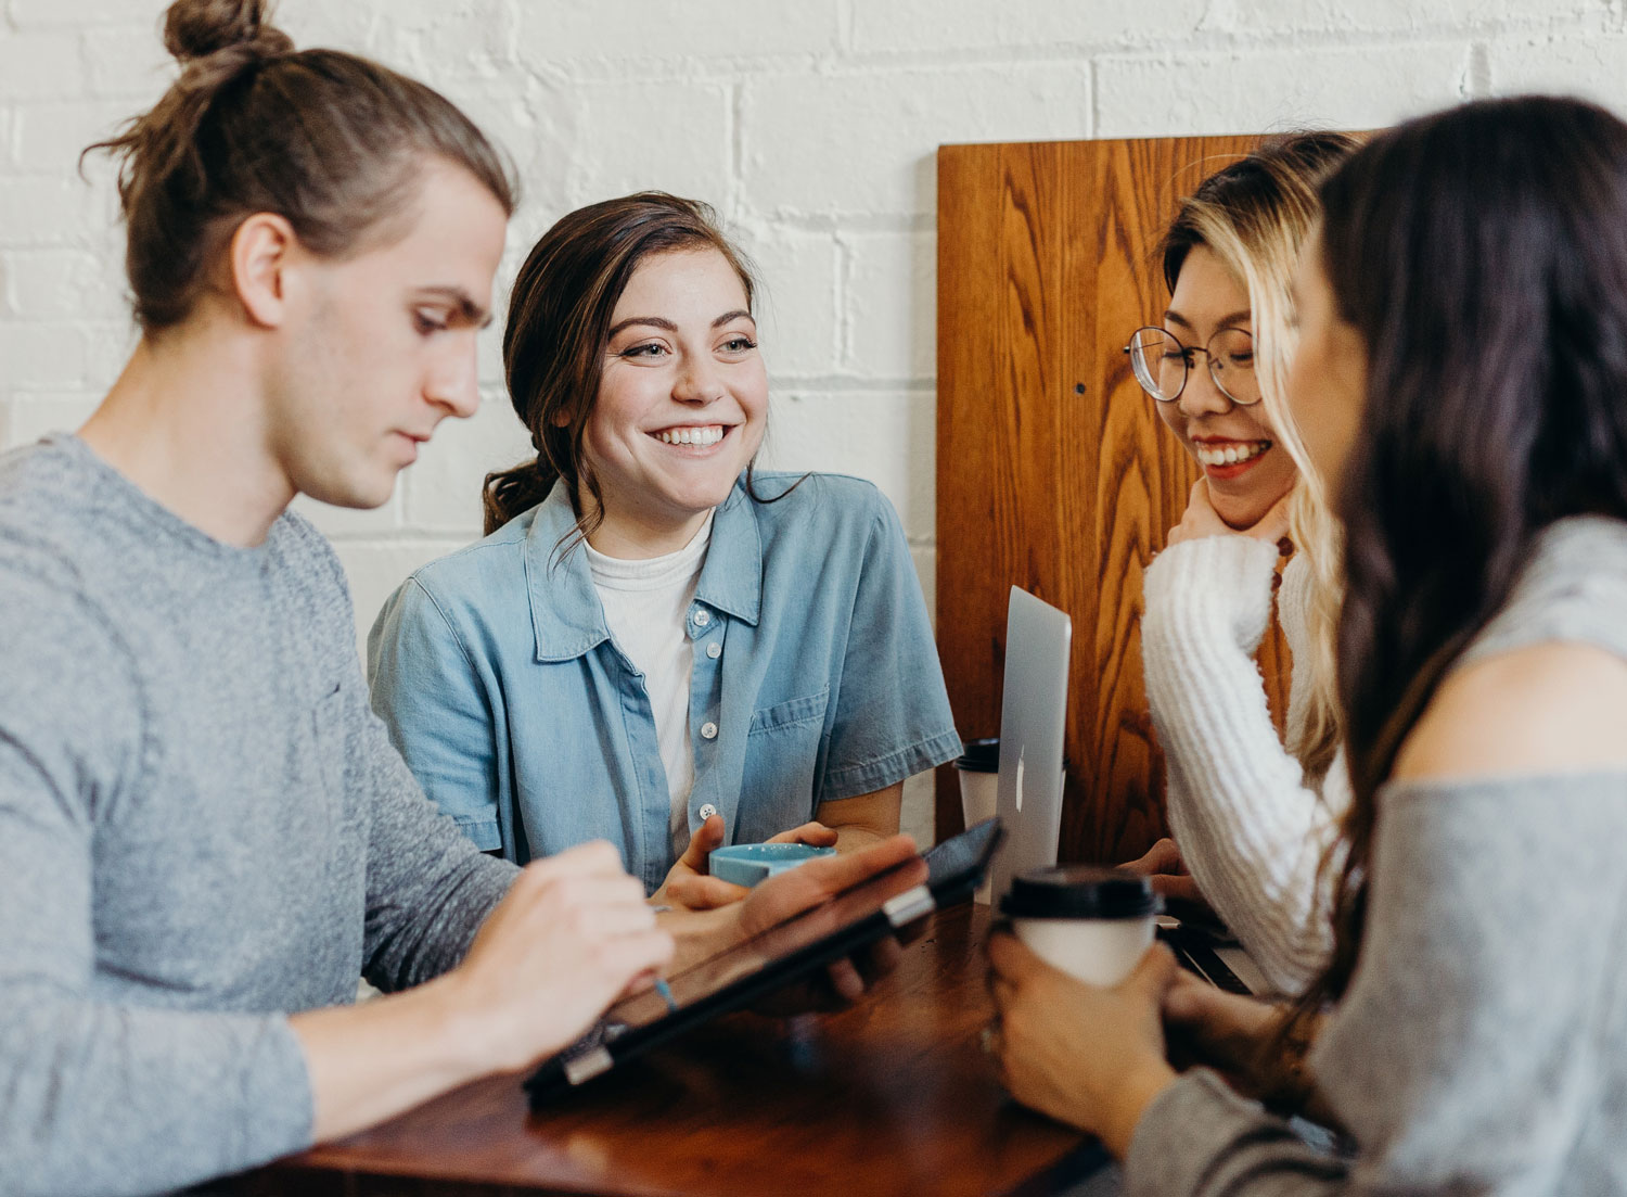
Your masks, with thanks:
[(94, 995), (96, 826), (153, 751), (142, 691), (72, 588), (0, 585), (0, 1192), (169, 1190), (308, 1147), (285, 1016)]

